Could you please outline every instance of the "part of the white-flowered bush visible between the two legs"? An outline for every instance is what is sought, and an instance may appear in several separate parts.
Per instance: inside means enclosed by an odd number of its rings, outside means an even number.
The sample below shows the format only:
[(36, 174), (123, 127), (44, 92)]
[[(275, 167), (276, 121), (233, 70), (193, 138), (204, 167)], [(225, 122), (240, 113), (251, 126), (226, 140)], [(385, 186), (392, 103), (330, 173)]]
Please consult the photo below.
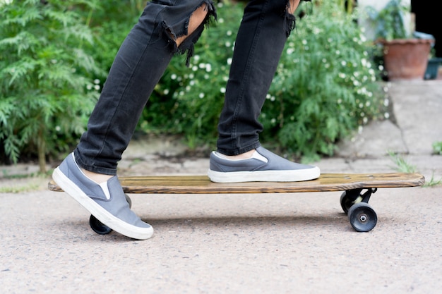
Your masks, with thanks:
[(172, 59), (143, 112), (141, 130), (182, 133), (190, 147), (215, 144), (229, 61), (244, 9), (244, 4), (229, 1), (217, 5), (218, 21), (201, 35), (189, 68), (184, 56)]

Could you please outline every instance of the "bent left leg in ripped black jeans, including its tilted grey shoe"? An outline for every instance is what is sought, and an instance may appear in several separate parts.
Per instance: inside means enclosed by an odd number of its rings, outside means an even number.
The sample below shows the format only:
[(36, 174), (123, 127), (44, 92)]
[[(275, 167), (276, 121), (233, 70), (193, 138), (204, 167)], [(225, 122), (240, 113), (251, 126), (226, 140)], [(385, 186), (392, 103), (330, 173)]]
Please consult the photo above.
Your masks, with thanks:
[(117, 162), (170, 59), (186, 50), (191, 56), (210, 16), (215, 11), (209, 0), (148, 3), (119, 49), (88, 130), (54, 170), (52, 177), (65, 192), (123, 235), (143, 240), (150, 238), (153, 228), (129, 208), (115, 176)]

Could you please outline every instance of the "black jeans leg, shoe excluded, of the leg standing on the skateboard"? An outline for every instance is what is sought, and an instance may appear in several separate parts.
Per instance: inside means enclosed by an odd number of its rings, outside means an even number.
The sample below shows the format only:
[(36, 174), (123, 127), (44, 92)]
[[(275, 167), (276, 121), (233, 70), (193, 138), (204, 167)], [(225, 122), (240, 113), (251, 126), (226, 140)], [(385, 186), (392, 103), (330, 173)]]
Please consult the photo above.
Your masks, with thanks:
[[(288, 6), (293, 10), (295, 4)], [(238, 155), (260, 146), (258, 116), (293, 21), (287, 0), (252, 0), (246, 6), (218, 125), (218, 152)]]

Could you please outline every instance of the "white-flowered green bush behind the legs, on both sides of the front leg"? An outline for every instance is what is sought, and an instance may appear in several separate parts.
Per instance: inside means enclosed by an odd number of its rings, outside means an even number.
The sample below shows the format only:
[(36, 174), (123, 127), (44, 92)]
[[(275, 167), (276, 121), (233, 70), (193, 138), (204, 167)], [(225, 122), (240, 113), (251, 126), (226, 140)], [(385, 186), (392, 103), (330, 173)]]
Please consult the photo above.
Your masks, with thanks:
[[(157, 85), (142, 130), (184, 133), (191, 147), (214, 147), (243, 11), (242, 4), (218, 6), (225, 7), (196, 44), (191, 66), (185, 68), (177, 56)], [(289, 37), (263, 107), (261, 141), (311, 160), (333, 154), (338, 140), (382, 116), (382, 95), (371, 46), (352, 16), (329, 1), (306, 11)]]

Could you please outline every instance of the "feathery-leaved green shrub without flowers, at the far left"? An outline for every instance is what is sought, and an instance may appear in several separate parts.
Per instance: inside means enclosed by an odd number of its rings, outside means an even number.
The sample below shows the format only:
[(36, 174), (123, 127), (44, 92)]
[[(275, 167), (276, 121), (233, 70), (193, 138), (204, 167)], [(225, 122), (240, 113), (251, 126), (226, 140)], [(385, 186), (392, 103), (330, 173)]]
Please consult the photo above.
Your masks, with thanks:
[[(23, 148), (63, 152), (85, 130), (99, 74), (83, 48), (92, 34), (75, 6), (93, 1), (11, 1), (0, 5), (0, 142), (17, 162)], [(60, 137), (62, 140), (60, 140)]]

